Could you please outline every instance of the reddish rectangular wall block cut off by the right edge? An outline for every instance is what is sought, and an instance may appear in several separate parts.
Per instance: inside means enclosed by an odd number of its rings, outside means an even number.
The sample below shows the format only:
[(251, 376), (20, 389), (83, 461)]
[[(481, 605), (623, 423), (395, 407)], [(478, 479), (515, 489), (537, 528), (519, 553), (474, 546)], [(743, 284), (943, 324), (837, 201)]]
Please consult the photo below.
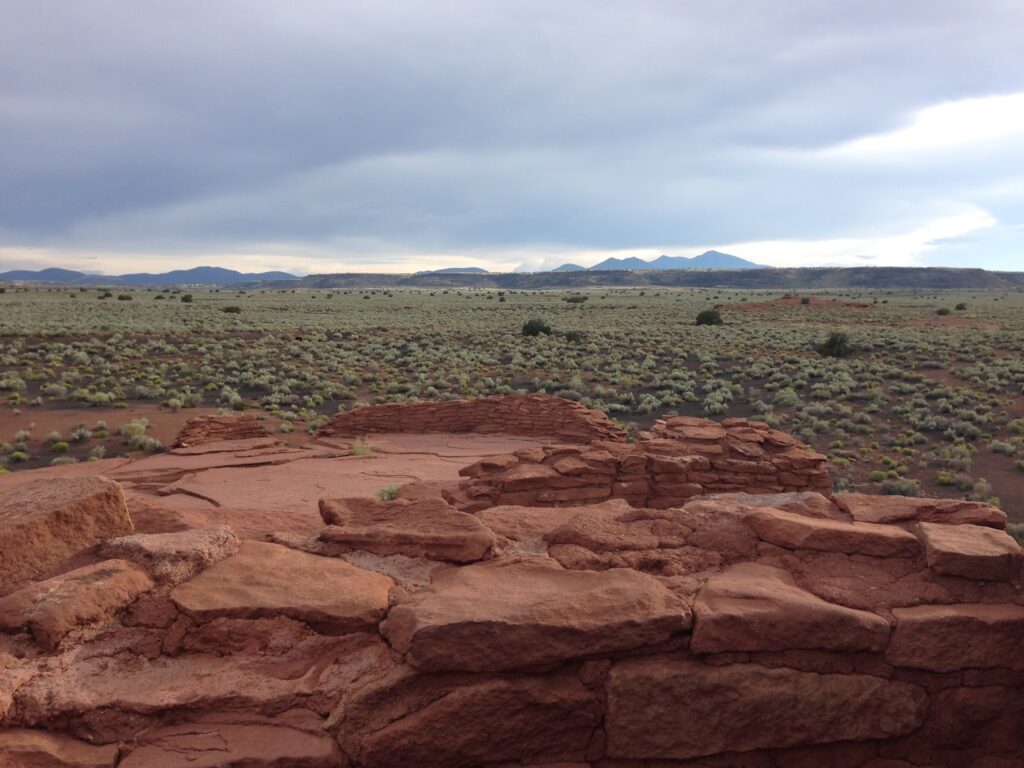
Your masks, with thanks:
[(935, 672), (1006, 668), (1024, 672), (1024, 606), (962, 603), (895, 608), (886, 659)]

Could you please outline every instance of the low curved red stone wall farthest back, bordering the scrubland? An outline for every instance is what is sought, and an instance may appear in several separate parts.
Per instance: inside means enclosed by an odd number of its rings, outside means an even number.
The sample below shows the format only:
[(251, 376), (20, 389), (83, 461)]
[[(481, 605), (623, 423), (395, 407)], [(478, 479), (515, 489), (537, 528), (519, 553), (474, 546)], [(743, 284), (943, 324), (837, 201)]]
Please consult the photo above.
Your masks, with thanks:
[(316, 434), (360, 437), (375, 432), (489, 432), (539, 435), (568, 442), (626, 438), (626, 433), (604, 414), (548, 395), (371, 406), (338, 414)]

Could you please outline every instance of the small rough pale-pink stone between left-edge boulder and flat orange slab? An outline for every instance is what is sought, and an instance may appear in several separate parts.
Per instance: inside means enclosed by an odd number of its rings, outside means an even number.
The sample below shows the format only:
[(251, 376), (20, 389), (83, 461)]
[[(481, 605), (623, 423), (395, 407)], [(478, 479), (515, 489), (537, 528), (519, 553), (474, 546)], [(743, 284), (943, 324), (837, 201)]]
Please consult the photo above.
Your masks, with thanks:
[(111, 539), (100, 552), (142, 565), (160, 584), (180, 584), (239, 551), (228, 525), (170, 534), (135, 534)]

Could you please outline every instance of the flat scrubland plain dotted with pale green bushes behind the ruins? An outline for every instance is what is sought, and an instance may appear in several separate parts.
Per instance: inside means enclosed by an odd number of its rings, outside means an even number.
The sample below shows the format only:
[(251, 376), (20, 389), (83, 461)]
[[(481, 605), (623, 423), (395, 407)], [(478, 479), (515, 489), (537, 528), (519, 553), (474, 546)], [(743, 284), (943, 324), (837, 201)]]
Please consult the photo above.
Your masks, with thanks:
[[(717, 307), (722, 325), (697, 326)], [(527, 336), (540, 319), (551, 333)], [(852, 352), (817, 351), (844, 333)], [(0, 471), (157, 452), (190, 415), (284, 435), (338, 411), (547, 392), (630, 429), (744, 417), (838, 489), (963, 497), (1024, 523), (1024, 292), (145, 290), (0, 294)]]

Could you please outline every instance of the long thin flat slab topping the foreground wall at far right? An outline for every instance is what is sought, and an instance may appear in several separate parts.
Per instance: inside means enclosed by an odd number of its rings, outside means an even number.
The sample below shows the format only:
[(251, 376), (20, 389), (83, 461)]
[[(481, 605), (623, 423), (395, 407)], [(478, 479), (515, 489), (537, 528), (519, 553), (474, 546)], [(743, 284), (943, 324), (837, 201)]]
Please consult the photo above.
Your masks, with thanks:
[(983, 502), (908, 496), (839, 494), (836, 504), (857, 522), (940, 522), (947, 525), (1007, 526), (1006, 513)]

